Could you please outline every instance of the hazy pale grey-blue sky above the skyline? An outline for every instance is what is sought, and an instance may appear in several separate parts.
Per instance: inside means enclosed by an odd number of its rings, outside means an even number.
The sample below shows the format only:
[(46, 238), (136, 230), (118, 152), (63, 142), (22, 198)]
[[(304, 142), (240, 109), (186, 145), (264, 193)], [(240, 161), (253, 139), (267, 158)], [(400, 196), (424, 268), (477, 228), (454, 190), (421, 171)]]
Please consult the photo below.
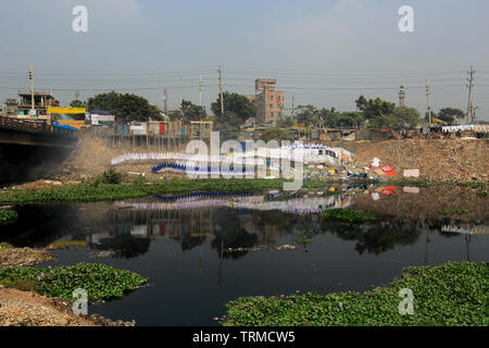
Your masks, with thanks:
[[(72, 9), (88, 9), (88, 33), (75, 33)], [(401, 5), (414, 9), (414, 33), (400, 33)], [(53, 90), (62, 104), (111, 89), (162, 105), (203, 103), (224, 88), (254, 94), (254, 79), (277, 78), (294, 103), (354, 110), (380, 97), (426, 111), (466, 110), (466, 71), (476, 70), (473, 102), (489, 120), (489, 1), (451, 0), (2, 0), (0, 98), (28, 88)]]

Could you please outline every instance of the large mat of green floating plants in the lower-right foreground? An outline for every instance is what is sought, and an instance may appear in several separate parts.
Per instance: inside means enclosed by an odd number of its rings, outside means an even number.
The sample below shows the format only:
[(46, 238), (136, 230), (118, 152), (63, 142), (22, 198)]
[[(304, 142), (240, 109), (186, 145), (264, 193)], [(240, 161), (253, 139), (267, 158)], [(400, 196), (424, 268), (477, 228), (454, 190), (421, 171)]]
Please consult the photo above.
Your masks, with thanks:
[[(224, 325), (409, 326), (489, 325), (489, 264), (411, 266), (387, 287), (360, 294), (243, 297), (230, 301)], [(401, 314), (401, 289), (413, 291), (413, 314)], [(402, 293), (401, 293), (402, 295)], [(405, 308), (405, 307), (404, 307)]]

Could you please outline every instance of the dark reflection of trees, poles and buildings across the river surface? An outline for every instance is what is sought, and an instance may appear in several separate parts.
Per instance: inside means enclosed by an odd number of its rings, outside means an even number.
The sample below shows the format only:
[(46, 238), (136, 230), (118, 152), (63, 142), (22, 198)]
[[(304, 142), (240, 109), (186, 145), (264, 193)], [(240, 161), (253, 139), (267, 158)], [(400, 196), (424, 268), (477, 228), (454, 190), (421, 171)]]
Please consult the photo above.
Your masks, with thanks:
[[(34, 220), (20, 219), (18, 225), (12, 229), (16, 233), (10, 241), (39, 247), (53, 241), (82, 240), (91, 249), (113, 251), (111, 256), (115, 258), (135, 258), (147, 253), (154, 238), (177, 241), (183, 251), (188, 251), (202, 246), (210, 237), (210, 245), (221, 260), (237, 260), (250, 251), (223, 251), (272, 246), (279, 236), (288, 236), (292, 244), (298, 236), (305, 236), (314, 243), (315, 236), (328, 233), (341, 240), (355, 241), (354, 250), (359, 254), (378, 256), (398, 246), (414, 245), (426, 233), (427, 262), (428, 234), (434, 231), (446, 237), (466, 234), (467, 259), (469, 235), (488, 233), (486, 225), (451, 224), (450, 221), (385, 219), (360, 225), (324, 222), (317, 212), (352, 206), (355, 192), (333, 196), (312, 194), (310, 197), (286, 197), (281, 192), (197, 192), (117, 201), (109, 206), (100, 203), (108, 206), (100, 211), (98, 203), (24, 206), (17, 209), (21, 216), (34, 214)], [(37, 220), (48, 222), (39, 225)], [(28, 221), (34, 221), (36, 225), (29, 226)], [(22, 231), (21, 234), (17, 231)]]

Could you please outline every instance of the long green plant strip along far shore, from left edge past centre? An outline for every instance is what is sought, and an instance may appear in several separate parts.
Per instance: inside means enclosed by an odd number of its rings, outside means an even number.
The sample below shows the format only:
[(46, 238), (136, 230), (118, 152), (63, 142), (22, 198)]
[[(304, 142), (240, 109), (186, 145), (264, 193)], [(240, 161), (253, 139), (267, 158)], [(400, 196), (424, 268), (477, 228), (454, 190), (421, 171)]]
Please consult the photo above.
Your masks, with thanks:
[[(168, 181), (147, 183), (98, 184), (54, 186), (46, 189), (11, 189), (0, 191), (0, 202), (62, 202), (97, 201), (136, 198), (151, 195), (190, 194), (193, 191), (240, 192), (280, 189), (284, 179), (264, 178), (172, 178)], [(323, 182), (306, 182), (303, 187), (324, 187)]]

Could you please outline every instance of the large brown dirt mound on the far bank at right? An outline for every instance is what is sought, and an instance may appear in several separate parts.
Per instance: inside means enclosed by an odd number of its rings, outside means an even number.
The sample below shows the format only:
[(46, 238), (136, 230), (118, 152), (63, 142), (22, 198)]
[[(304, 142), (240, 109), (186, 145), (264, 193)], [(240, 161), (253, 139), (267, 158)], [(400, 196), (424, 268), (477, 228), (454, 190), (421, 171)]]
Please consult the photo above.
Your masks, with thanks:
[(489, 139), (385, 140), (359, 147), (356, 164), (390, 164), (419, 170), (419, 178), (441, 182), (489, 182)]

